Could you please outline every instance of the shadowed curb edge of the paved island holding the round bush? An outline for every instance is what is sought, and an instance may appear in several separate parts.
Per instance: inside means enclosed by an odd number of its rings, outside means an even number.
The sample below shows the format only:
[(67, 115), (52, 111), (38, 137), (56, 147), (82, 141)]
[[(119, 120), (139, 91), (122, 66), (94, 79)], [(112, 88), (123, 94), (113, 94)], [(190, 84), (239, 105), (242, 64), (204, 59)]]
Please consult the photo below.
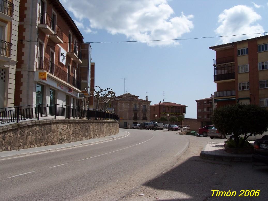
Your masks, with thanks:
[(207, 153), (209, 151), (205, 151), (206, 144), (203, 147), (203, 150), (200, 153), (200, 157), (202, 159), (207, 159), (207, 160), (213, 160), (213, 161), (233, 161), (233, 162), (252, 162), (252, 156), (251, 154), (249, 155), (242, 155), (242, 154), (233, 154), (233, 155), (221, 155), (221, 154), (215, 154), (215, 152)]

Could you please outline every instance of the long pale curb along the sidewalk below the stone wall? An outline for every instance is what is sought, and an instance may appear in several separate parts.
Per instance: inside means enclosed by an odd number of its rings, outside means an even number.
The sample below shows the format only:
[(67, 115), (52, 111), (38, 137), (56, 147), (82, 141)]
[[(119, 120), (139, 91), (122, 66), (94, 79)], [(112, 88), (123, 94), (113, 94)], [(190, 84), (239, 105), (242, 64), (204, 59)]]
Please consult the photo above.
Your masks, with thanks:
[[(125, 137), (126, 135), (128, 135), (128, 133), (126, 133), (125, 135), (122, 135), (122, 136), (112, 137), (112, 138), (105, 139), (105, 140), (100, 140), (100, 141), (97, 141), (97, 142), (81, 143), (81, 144), (77, 144), (77, 145), (70, 145), (70, 146), (67, 146), (67, 147), (51, 148), (51, 149), (46, 149), (46, 150), (41, 150), (41, 151), (31, 151), (31, 152), (21, 153), (21, 154), (0, 156), (0, 160), (1, 159), (7, 159), (7, 158), (13, 158), (13, 157), (19, 157), (19, 156), (40, 154), (40, 153), (50, 152), (50, 151), (64, 150), (64, 149), (73, 148), (73, 147), (82, 147), (82, 146), (87, 146), (87, 145), (90, 145), (90, 144), (97, 144), (97, 143), (100, 143), (100, 142), (105, 142), (105, 141), (108, 141), (108, 140), (119, 139), (119, 138)], [(42, 147), (46, 147), (46, 146), (42, 146)]]

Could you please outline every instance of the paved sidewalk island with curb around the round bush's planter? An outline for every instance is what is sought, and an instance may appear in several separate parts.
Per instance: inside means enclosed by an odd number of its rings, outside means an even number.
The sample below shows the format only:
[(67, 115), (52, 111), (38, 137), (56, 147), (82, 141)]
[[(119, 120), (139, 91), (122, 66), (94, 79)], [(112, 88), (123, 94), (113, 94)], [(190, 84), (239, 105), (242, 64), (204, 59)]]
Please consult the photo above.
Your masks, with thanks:
[(227, 153), (224, 148), (224, 143), (206, 144), (200, 153), (200, 157), (214, 161), (252, 162), (251, 154)]

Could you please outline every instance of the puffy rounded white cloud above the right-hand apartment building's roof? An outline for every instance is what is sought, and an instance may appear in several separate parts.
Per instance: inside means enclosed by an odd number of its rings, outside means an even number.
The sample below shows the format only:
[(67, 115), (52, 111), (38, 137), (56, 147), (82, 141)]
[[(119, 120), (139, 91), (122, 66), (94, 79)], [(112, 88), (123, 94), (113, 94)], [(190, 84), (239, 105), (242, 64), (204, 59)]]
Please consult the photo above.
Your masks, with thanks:
[[(263, 33), (263, 27), (256, 23), (256, 21), (260, 19), (261, 16), (252, 8), (245, 5), (237, 5), (224, 10), (219, 15), (218, 23), (220, 23), (220, 25), (215, 30), (215, 33), (220, 36)], [(262, 36), (262, 34), (222, 37), (221, 42), (230, 43), (258, 36)]]

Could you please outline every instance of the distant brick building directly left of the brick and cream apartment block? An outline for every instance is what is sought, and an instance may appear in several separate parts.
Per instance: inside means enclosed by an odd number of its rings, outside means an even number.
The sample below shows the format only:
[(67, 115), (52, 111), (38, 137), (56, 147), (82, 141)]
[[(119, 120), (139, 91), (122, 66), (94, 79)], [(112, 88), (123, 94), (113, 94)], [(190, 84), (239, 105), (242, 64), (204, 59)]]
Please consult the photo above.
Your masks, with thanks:
[(211, 117), (215, 107), (214, 97), (196, 100), (197, 104), (197, 121), (200, 122), (200, 127), (212, 125)]

